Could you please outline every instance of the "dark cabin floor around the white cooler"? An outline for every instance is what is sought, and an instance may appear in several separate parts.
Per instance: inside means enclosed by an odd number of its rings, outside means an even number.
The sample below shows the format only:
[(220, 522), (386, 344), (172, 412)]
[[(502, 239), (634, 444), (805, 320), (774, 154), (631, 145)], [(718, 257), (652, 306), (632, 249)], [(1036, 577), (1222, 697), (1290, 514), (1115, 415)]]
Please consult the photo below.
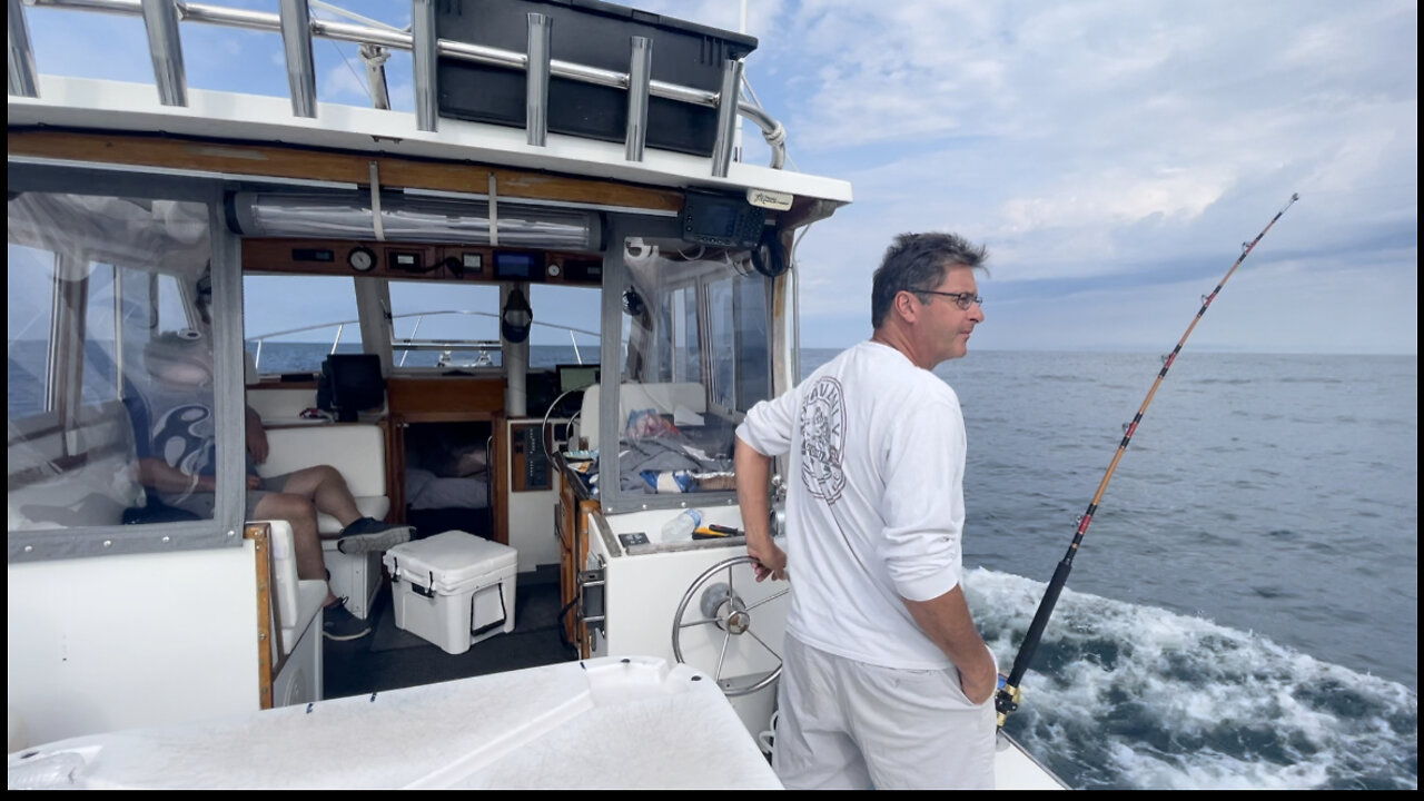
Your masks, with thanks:
[(325, 640), (325, 697), (369, 696), (471, 676), (540, 667), (575, 658), (558, 630), (558, 583), (553, 576), (521, 574), (514, 594), (514, 631), (449, 654), (434, 643), (396, 627), (386, 583), (367, 621), (372, 633), (349, 641)]

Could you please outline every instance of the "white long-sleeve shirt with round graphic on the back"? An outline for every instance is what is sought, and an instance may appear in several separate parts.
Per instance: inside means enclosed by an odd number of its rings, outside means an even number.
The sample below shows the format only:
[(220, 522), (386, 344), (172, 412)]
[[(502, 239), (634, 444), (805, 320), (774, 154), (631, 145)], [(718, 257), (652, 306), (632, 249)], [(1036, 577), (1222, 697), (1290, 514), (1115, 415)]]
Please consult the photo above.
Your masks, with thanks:
[(736, 433), (790, 455), (787, 633), (869, 664), (948, 667), (900, 599), (960, 583), (967, 442), (950, 385), (862, 342), (753, 406)]

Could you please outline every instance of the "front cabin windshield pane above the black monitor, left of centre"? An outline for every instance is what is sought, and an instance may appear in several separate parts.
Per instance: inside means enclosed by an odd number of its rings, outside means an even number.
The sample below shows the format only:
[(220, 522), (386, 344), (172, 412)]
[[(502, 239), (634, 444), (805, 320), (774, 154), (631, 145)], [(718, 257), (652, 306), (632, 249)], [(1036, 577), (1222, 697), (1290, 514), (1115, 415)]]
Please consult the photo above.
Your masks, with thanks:
[(318, 373), (328, 353), (360, 353), (353, 281), (330, 275), (244, 275), (244, 338), (258, 372)]

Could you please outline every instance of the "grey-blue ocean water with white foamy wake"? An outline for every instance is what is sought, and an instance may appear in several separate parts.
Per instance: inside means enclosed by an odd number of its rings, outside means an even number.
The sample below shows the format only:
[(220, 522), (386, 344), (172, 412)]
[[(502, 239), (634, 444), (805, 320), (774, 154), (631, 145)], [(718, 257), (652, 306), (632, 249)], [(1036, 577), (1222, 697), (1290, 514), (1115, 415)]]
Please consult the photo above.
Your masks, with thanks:
[[(964, 586), (1005, 673), (1161, 368), (936, 371), (968, 430)], [(1183, 351), (1005, 730), (1078, 788), (1417, 788), (1417, 443), (1415, 356)]]

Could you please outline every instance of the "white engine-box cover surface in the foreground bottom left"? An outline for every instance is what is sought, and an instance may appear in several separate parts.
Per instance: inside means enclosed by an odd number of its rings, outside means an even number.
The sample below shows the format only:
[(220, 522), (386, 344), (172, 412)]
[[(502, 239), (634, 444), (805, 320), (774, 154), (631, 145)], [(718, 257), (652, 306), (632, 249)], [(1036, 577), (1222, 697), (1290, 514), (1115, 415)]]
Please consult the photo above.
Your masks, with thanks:
[(780, 787), (702, 678), (604, 657), (75, 737), (11, 754), (10, 788)]

